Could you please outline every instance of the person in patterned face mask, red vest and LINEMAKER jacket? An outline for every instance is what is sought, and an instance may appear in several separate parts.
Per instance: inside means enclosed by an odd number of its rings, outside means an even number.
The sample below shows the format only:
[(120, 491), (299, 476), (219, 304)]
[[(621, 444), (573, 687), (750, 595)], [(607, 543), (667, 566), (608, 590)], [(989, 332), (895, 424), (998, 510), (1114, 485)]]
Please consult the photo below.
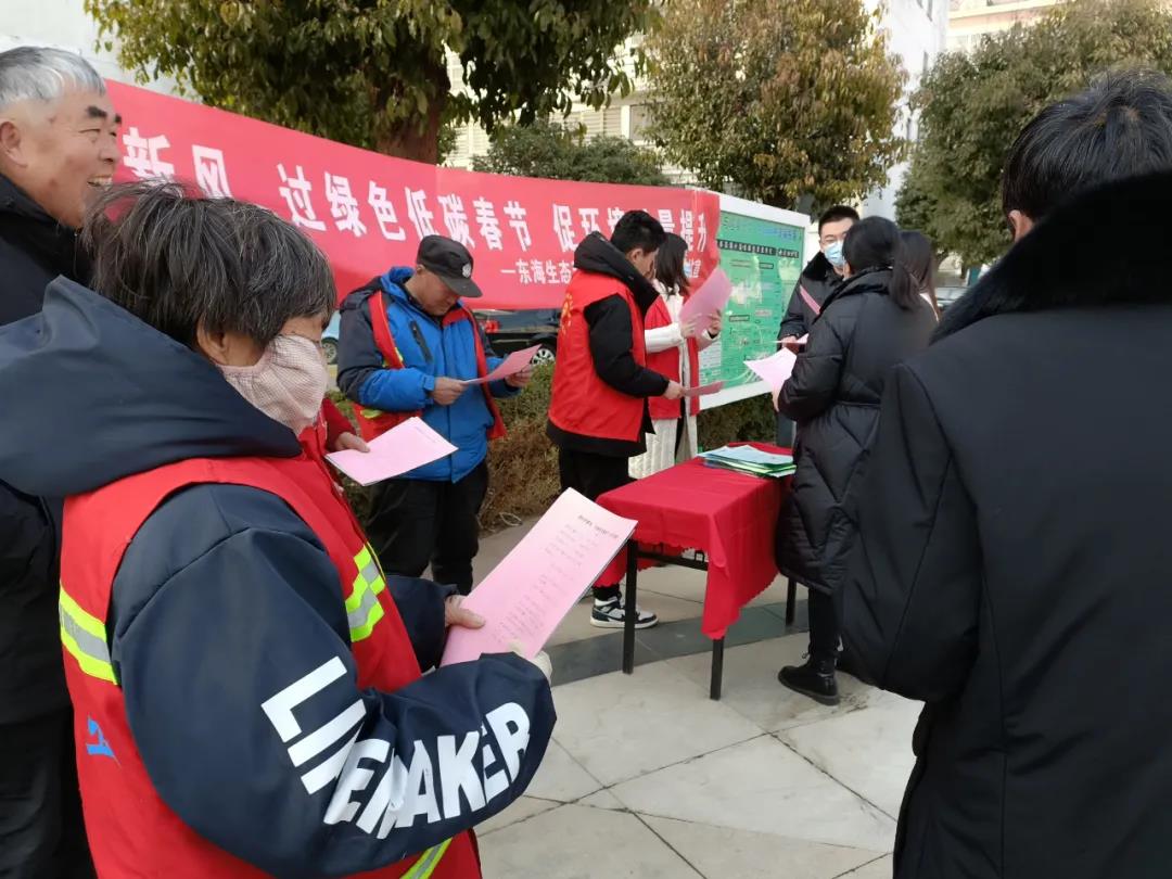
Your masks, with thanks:
[[(516, 655), (422, 677), (448, 625), (383, 578), (298, 435), (326, 390), (331, 270), (254, 205), (115, 189), (97, 295), (54, 281), (0, 331), (0, 479), (66, 497), (61, 635), (103, 879), (477, 879), (470, 829), (552, 730)], [(35, 451), (18, 424), (54, 423)]]

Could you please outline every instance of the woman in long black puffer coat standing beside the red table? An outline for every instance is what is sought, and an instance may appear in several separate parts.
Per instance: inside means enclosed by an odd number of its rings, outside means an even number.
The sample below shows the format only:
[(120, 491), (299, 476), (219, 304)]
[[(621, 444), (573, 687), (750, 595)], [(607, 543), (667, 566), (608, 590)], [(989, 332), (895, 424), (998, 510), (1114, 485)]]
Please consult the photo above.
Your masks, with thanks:
[(841, 504), (879, 422), (884, 380), (928, 345), (935, 313), (901, 259), (899, 227), (870, 217), (846, 234), (846, 278), (810, 329), (778, 396), (797, 422), (797, 473), (777, 524), (777, 566), (810, 590), (810, 657), (783, 668), (790, 689), (838, 702), (839, 618), (833, 592), (854, 527)]

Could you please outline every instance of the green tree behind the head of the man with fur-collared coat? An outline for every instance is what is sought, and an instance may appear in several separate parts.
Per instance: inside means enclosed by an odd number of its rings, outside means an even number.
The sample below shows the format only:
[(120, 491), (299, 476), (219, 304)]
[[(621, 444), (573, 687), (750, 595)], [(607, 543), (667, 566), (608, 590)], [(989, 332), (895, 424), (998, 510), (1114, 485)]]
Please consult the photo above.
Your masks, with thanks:
[(1172, 12), (1160, 0), (1059, 4), (1031, 28), (942, 56), (913, 100), (920, 142), (899, 193), (900, 225), (967, 265), (994, 260), (1009, 240), (1001, 172), (1017, 134), (1097, 75), (1136, 67), (1172, 73)]

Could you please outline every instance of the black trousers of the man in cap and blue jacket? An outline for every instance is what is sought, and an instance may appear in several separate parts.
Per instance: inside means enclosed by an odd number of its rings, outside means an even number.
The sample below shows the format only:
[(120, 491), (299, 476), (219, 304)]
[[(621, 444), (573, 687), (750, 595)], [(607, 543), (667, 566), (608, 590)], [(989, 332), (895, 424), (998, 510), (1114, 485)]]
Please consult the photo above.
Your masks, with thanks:
[(472, 559), (481, 548), (477, 517), (489, 490), (489, 464), (459, 482), (388, 479), (375, 485), (367, 537), (388, 574), (422, 577), (472, 591)]

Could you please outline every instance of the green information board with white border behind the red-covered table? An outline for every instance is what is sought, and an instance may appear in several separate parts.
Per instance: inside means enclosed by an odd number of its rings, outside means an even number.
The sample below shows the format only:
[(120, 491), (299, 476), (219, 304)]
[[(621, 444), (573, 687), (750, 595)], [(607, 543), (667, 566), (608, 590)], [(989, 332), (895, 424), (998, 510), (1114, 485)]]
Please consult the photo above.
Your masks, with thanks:
[(700, 355), (701, 380), (723, 381), (724, 389), (706, 397), (706, 408), (766, 390), (744, 361), (777, 350), (777, 329), (804, 265), (804, 217), (741, 199), (728, 199), (735, 207), (725, 210), (725, 198), (716, 239), (732, 298), (723, 331)]

